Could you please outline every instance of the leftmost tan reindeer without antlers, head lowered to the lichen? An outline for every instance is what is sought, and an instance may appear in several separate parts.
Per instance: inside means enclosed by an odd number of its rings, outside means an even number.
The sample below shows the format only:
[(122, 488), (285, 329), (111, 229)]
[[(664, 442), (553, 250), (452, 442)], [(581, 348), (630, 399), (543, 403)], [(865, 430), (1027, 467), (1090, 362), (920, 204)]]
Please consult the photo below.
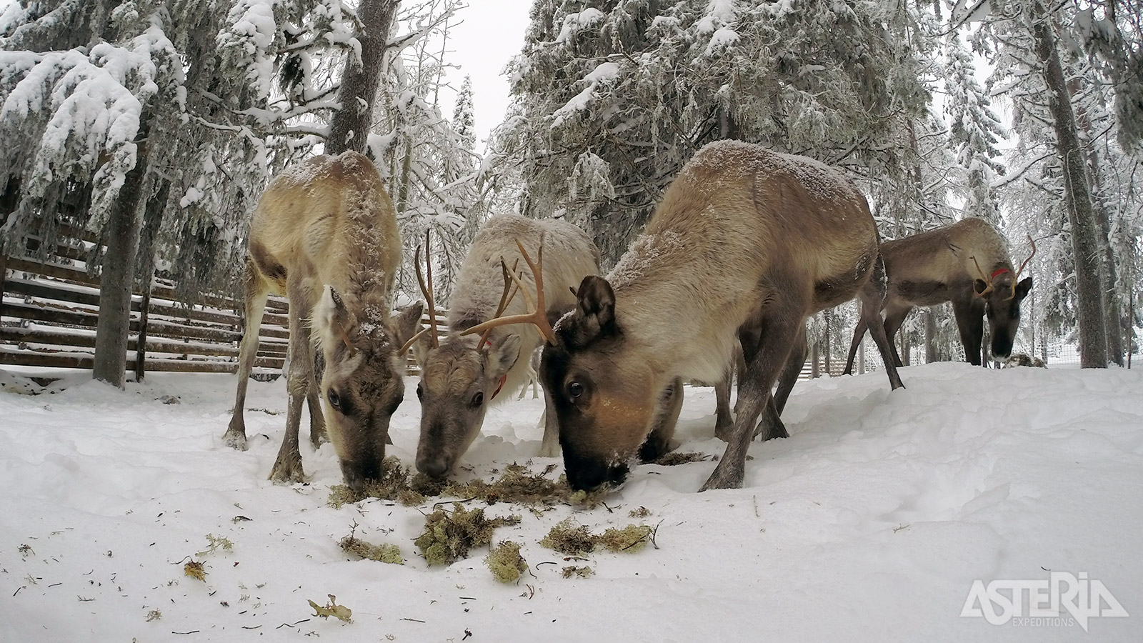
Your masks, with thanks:
[(238, 395), (223, 442), (246, 448), (242, 411), (262, 315), (269, 294), (283, 294), (289, 299), (289, 402), (270, 479), (304, 479), (298, 453), (303, 399), (310, 406), (310, 440), (317, 446), (328, 430), (350, 486), (361, 489), (381, 475), (389, 420), (405, 394), (398, 347), (421, 317), (419, 304), (389, 315), (400, 260), (393, 204), (362, 154), (309, 159), (271, 181), (262, 195), (246, 260)]

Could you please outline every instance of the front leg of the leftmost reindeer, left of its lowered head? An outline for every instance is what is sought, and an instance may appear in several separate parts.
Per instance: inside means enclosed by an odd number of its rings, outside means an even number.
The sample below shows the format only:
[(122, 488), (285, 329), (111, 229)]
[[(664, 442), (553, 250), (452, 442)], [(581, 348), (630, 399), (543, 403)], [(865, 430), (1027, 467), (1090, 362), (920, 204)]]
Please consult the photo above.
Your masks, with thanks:
[(310, 342), (311, 307), (309, 293), (297, 283), (289, 285), (289, 343), (294, 359), (289, 360), (286, 373), (286, 390), (289, 402), (286, 410), (286, 436), (282, 438), (278, 459), (270, 471), (270, 479), (275, 483), (299, 483), (305, 481), (302, 469), (302, 454), (298, 452), (298, 429), (302, 424), (302, 404), (305, 402), (313, 381), (313, 347)]

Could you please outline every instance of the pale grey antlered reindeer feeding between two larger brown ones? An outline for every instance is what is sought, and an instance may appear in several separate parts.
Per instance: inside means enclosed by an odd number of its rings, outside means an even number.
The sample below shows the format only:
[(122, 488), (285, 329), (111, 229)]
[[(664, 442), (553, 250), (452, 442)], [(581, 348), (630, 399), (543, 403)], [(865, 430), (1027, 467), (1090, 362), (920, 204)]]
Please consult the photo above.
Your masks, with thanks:
[[(541, 240), (546, 259), (542, 275), (535, 277), (527, 270), (517, 275), (517, 241), (538, 247)], [(522, 280), (523, 296), (510, 292), (513, 281), (506, 275), (509, 270)], [(570, 223), (499, 215), (481, 227), (453, 289), (448, 336), (438, 346), (433, 328), (414, 344), (421, 365), (417, 470), (438, 478), (453, 471), (480, 434), (488, 405), (511, 397), (511, 391), (527, 382), (529, 358), (543, 341), (534, 326), (495, 328), (482, 335), (470, 328), (501, 313), (522, 312), (525, 299), (530, 296), (528, 291), (536, 284), (543, 285), (541, 296), (552, 310), (568, 310), (576, 301), (570, 288), (588, 275), (599, 275), (599, 251), (583, 230)], [(426, 297), (429, 292), (431, 287), (425, 291)], [(429, 299), (431, 325), (435, 326)], [(559, 455), (554, 418), (550, 415), (539, 455)]]

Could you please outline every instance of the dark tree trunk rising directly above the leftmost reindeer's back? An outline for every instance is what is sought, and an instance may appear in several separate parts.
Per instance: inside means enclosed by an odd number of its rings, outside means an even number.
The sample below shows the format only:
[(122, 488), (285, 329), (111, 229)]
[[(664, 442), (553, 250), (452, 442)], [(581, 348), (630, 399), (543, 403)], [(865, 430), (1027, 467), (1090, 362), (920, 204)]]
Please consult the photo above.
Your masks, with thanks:
[(361, 56), (351, 54), (342, 73), (342, 86), (337, 92), (337, 102), (342, 108), (334, 112), (329, 122), (329, 135), (326, 137), (328, 154), (347, 150), (366, 151), (377, 84), (385, 70), (389, 32), (400, 3), (400, 0), (361, 0), (358, 5), (362, 27), (362, 32), (358, 33)]

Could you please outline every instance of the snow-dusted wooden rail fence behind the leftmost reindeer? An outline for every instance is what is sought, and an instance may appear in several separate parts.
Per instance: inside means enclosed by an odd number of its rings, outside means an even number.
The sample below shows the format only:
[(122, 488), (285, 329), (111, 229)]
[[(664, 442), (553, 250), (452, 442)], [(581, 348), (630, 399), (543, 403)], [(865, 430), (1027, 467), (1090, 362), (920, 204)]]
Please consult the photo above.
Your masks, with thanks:
[[(67, 254), (81, 259), (74, 249)], [(90, 370), (99, 284), (74, 265), (0, 254), (0, 365)], [(206, 295), (179, 303), (175, 285), (154, 279), (131, 294), (127, 370), (233, 373), (242, 339), (242, 302)], [(259, 332), (255, 373), (281, 372), (289, 341), (289, 304), (270, 297)], [(426, 322), (427, 323), (427, 322)], [(142, 342), (139, 338), (143, 338)], [(410, 373), (416, 371), (409, 362)]]

